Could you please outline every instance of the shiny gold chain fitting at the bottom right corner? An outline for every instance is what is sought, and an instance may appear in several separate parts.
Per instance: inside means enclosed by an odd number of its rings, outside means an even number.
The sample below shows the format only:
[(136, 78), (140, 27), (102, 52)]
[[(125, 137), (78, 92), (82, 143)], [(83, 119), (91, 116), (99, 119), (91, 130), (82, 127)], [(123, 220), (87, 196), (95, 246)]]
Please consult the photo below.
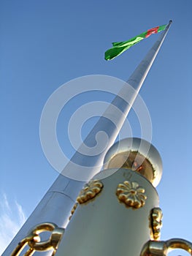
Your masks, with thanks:
[(173, 249), (184, 249), (192, 255), (191, 242), (180, 238), (172, 238), (167, 241), (147, 241), (140, 256), (166, 256)]

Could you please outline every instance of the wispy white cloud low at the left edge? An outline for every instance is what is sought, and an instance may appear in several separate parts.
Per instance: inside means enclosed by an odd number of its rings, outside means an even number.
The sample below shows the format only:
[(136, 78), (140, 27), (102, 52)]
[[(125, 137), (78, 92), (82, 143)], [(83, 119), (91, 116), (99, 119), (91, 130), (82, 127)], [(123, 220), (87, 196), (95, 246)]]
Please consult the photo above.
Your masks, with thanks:
[(26, 221), (26, 215), (17, 200), (8, 200), (3, 193), (0, 196), (0, 255)]

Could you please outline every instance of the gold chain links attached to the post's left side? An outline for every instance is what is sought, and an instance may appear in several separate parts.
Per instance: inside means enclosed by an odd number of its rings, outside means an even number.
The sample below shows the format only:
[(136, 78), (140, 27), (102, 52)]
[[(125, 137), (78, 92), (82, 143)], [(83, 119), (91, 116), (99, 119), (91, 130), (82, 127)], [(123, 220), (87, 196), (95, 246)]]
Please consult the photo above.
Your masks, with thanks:
[[(41, 241), (39, 236), (40, 233), (50, 231), (50, 238), (46, 241)], [(58, 227), (54, 223), (45, 222), (34, 227), (26, 238), (23, 238), (22, 241), (18, 244), (15, 250), (12, 252), (11, 256), (19, 256), (23, 252), (26, 246), (29, 246), (29, 249), (24, 254), (24, 256), (31, 256), (36, 251), (48, 251), (53, 249), (53, 254), (55, 255), (56, 250), (58, 249), (58, 244), (61, 241), (62, 236), (64, 235), (64, 228)]]

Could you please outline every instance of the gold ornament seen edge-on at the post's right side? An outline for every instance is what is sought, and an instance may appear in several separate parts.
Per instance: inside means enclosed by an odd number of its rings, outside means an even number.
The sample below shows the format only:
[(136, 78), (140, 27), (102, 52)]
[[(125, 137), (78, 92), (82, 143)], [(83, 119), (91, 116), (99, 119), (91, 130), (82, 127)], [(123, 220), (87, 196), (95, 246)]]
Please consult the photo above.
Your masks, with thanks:
[(163, 213), (161, 208), (155, 207), (150, 211), (150, 237), (159, 240), (161, 236)]

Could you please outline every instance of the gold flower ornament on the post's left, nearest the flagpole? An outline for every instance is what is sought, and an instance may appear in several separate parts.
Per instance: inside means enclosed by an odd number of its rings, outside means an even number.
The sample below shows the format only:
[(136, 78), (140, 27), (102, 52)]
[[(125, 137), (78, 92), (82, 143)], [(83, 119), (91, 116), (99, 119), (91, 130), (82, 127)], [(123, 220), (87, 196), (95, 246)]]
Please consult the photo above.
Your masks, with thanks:
[(103, 187), (104, 185), (101, 181), (89, 181), (89, 183), (85, 185), (84, 189), (80, 191), (80, 195), (78, 195), (77, 197), (77, 202), (85, 203), (88, 200), (91, 200), (93, 197), (96, 197), (96, 195), (101, 192)]

